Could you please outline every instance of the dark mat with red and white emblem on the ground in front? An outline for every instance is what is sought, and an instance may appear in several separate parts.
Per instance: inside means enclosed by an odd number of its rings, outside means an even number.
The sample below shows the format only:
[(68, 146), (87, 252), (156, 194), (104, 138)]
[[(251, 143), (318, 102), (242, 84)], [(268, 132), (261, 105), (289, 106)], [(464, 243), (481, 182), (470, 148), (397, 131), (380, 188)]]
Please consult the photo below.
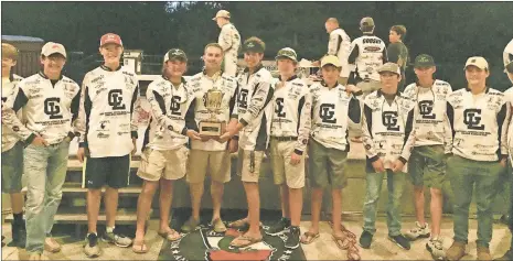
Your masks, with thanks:
[[(225, 222), (234, 221), (246, 216), (247, 210), (223, 210), (221, 214)], [(180, 227), (189, 219), (191, 209), (173, 209), (171, 227), (180, 231)], [(281, 211), (261, 210), (263, 230), (281, 217)], [(268, 236), (264, 231), (263, 242), (252, 244), (245, 249), (229, 247), (238, 231), (229, 229), (225, 233), (216, 233), (207, 225), (212, 218), (212, 210), (201, 213), (201, 229), (190, 233), (182, 233), (182, 239), (170, 242), (165, 240), (160, 250), (159, 260), (306, 260), (301, 247), (291, 250), (285, 248), (286, 237)]]

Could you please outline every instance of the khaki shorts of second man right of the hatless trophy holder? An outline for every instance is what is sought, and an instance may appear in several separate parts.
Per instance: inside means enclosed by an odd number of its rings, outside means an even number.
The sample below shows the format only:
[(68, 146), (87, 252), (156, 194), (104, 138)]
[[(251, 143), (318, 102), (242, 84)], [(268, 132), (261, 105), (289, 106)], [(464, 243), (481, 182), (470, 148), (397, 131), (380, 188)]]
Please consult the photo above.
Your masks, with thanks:
[(290, 155), (296, 148), (297, 141), (278, 141), (270, 138), (270, 160), (275, 184), (281, 185), (287, 182), (290, 188), (304, 186), (304, 154), (297, 165), (290, 164)]

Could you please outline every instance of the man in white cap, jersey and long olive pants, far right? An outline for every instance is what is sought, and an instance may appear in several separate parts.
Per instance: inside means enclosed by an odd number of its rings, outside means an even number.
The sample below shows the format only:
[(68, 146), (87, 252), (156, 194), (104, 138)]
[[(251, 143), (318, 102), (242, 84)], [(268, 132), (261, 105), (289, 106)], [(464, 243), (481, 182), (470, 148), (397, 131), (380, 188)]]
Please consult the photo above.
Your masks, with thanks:
[(490, 70), (483, 57), (468, 58), (464, 75), (467, 88), (453, 91), (447, 99), (447, 117), (453, 137), (453, 155), (447, 160), (447, 175), (455, 192), (455, 241), (446, 257), (460, 260), (466, 254), (469, 207), (475, 191), (478, 260), (491, 260), (492, 200), (506, 166), (510, 108), (504, 94), (487, 86)]

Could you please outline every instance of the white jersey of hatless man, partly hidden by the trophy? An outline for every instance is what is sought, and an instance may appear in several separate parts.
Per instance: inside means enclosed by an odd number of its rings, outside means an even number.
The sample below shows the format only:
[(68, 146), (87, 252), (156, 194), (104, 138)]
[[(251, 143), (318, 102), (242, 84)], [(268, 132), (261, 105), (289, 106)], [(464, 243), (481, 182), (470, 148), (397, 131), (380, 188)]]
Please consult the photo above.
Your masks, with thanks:
[[(213, 77), (209, 77), (204, 72), (197, 73), (188, 80), (188, 88), (192, 89), (195, 98), (194, 106), (194, 120), (200, 126), (200, 121), (211, 119), (211, 113), (205, 107), (204, 96), (210, 89), (214, 87), (223, 93), (223, 99), (221, 104), (221, 112), (215, 116), (218, 121), (225, 121), (226, 124), (229, 122), (231, 115), (235, 107), (235, 100), (237, 96), (237, 80), (235, 77), (227, 75), (226, 73), (215, 74)], [(188, 120), (188, 119), (185, 119)], [(220, 143), (215, 140), (207, 141), (191, 141), (191, 149), (202, 151), (224, 151), (226, 150), (226, 142)]]

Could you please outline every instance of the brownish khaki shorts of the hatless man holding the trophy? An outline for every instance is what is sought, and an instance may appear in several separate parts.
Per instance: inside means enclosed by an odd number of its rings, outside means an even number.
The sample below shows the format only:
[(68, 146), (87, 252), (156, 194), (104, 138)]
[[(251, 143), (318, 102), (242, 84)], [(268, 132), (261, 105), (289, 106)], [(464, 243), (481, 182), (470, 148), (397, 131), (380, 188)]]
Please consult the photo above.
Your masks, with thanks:
[(186, 181), (189, 183), (203, 182), (209, 173), (213, 181), (226, 183), (231, 178), (231, 166), (232, 159), (228, 151), (191, 150)]

